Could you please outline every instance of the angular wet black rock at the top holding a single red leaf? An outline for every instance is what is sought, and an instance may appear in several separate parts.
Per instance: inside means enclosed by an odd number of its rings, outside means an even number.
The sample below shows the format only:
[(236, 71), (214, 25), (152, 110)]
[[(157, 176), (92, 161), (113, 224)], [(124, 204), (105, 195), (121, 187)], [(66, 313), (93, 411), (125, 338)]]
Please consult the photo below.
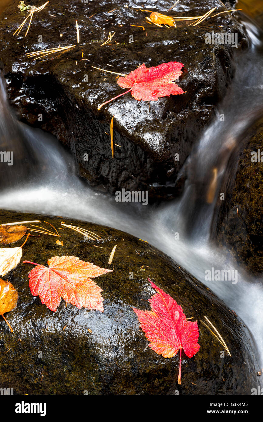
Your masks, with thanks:
[[(42, 5), (43, 1), (34, 4)], [(233, 8), (228, 2), (225, 5)], [(205, 33), (236, 33), (239, 48), (247, 46), (247, 40), (242, 26), (228, 13), (196, 27), (177, 22), (176, 29), (168, 29), (148, 24), (145, 16), (149, 14), (132, 8), (136, 6), (141, 7), (137, 0), (123, 5), (112, 0), (54, 0), (34, 15), (24, 38), (25, 30), (18, 37), (13, 37), (13, 32), (27, 11), (19, 12), (17, 4), (12, 3), (1, 15), (0, 58), (8, 96), (19, 118), (53, 133), (70, 146), (80, 175), (91, 185), (111, 193), (124, 188), (148, 190), (150, 198), (172, 197), (180, 192), (180, 168), (233, 76), (236, 49), (227, 44), (206, 44)], [(217, 13), (225, 10), (220, 0), (184, 0), (169, 14), (201, 16), (214, 6)], [(147, 3), (147, 8), (164, 13), (170, 7), (171, 2), (166, 0)], [(48, 60), (27, 59), (25, 54), (32, 51), (76, 44), (76, 19), (80, 43), (74, 49), (50, 55)], [(130, 25), (144, 25), (145, 31)], [(115, 31), (114, 45), (100, 47), (110, 31)], [(129, 42), (130, 35), (134, 42)], [(85, 60), (81, 60), (82, 53)], [(184, 63), (179, 85), (186, 94), (152, 101), (150, 111), (148, 103), (127, 94), (97, 110), (100, 103), (122, 89), (116, 75), (91, 65), (129, 73), (143, 62), (150, 67), (169, 61)], [(121, 146), (114, 146), (114, 159), (108, 135), (113, 115), (114, 143)], [(179, 160), (174, 159), (176, 153)], [(84, 154), (88, 154), (88, 160), (84, 160)]]

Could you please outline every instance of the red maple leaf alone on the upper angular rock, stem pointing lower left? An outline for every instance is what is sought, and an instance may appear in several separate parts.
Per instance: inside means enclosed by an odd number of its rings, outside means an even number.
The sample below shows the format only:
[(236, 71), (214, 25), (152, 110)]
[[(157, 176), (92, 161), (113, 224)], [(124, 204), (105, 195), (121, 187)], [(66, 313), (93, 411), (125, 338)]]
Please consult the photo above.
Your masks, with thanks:
[(173, 82), (174, 79), (177, 79), (182, 74), (181, 68), (183, 68), (183, 64), (179, 62), (162, 63), (152, 68), (147, 68), (143, 63), (125, 78), (121, 77), (118, 79), (117, 84), (120, 87), (130, 89), (101, 104), (98, 110), (105, 104), (110, 103), (110, 101), (130, 91), (135, 100), (139, 101), (156, 101), (160, 97), (169, 97), (171, 94), (183, 94), (182, 88)]

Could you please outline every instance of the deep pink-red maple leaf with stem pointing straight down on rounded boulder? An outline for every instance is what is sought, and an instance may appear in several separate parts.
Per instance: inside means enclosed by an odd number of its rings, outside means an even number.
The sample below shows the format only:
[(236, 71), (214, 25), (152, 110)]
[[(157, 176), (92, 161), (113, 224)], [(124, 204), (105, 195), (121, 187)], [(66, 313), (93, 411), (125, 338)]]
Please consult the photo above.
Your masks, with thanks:
[(163, 357), (173, 357), (180, 349), (178, 384), (181, 384), (182, 349), (186, 356), (193, 357), (200, 348), (197, 343), (199, 337), (197, 321), (188, 321), (182, 307), (177, 305), (171, 296), (159, 289), (152, 281), (150, 284), (157, 292), (149, 300), (152, 310), (132, 309), (138, 316), (145, 337), (150, 341), (148, 346), (154, 352)]

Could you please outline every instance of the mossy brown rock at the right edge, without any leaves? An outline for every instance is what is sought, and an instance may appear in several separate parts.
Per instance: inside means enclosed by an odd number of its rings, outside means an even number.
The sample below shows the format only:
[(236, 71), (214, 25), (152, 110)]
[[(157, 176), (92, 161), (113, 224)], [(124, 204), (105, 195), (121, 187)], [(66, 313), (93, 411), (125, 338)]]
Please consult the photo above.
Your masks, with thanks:
[[(260, 153), (263, 153), (263, 120), (247, 131), (239, 143), (239, 151), (229, 160), (220, 188), (226, 199), (217, 201), (212, 226), (216, 241), (255, 275), (263, 272), (263, 154)], [(257, 161), (252, 162), (254, 156)]]

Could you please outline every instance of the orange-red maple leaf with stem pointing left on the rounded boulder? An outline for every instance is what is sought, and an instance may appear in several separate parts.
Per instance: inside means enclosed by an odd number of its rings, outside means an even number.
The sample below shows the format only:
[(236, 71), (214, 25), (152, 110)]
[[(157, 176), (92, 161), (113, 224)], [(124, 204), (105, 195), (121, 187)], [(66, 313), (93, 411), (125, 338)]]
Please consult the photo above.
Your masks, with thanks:
[(51, 311), (56, 311), (61, 298), (79, 309), (104, 311), (100, 294), (102, 289), (91, 279), (113, 270), (105, 270), (91, 262), (68, 256), (50, 258), (49, 268), (30, 261), (24, 262), (36, 265), (28, 275), (30, 290)]

